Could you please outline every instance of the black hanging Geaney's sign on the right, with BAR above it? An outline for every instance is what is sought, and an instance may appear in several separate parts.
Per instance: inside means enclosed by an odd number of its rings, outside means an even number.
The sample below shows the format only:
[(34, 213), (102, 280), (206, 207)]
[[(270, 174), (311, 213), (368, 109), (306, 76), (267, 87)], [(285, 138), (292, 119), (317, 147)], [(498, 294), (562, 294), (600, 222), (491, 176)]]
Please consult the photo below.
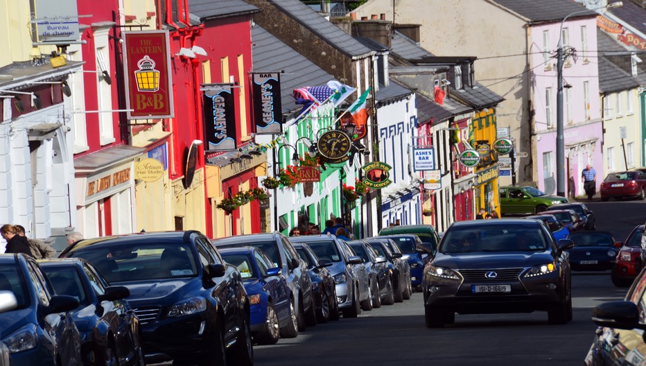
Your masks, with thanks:
[(256, 134), (281, 134), (280, 73), (252, 73), (252, 94)]

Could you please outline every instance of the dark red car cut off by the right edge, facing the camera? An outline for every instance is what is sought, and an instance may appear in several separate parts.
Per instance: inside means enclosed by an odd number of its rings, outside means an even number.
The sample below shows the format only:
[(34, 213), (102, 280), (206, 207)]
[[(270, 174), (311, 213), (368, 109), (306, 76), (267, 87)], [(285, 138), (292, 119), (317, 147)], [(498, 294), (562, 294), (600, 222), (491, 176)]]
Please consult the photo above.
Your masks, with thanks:
[(619, 249), (619, 254), (615, 265), (612, 268), (612, 283), (617, 287), (630, 286), (635, 277), (639, 275), (644, 268), (644, 258), (642, 256), (642, 236), (644, 234), (644, 225), (637, 225), (633, 231), (628, 234), (626, 241)]

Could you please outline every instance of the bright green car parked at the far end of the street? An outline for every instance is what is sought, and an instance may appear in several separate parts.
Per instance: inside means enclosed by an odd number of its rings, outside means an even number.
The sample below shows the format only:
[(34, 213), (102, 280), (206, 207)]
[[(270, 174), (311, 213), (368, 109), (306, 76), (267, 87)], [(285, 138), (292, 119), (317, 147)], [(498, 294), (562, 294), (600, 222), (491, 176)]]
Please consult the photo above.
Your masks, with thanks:
[(568, 199), (558, 195), (546, 195), (533, 186), (500, 187), (501, 214), (538, 214), (552, 204), (566, 203)]

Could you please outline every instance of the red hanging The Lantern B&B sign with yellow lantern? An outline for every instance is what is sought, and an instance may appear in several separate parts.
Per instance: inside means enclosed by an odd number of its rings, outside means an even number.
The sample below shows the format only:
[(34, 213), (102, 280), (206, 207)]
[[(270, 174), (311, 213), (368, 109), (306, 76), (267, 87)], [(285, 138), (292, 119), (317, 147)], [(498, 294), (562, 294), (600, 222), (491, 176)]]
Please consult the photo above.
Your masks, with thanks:
[(123, 40), (128, 119), (173, 118), (168, 30), (123, 32)]

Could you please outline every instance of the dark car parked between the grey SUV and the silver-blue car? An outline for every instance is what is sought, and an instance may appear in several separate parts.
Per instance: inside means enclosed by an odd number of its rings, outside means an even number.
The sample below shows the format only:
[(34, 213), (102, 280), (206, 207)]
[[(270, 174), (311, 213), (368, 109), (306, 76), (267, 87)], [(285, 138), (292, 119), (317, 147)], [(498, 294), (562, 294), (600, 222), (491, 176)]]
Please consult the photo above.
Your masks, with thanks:
[(316, 316), (320, 323), (328, 320), (339, 320), (339, 302), (336, 296), (334, 277), (327, 269), (331, 261), (320, 260), (312, 248), (306, 243), (295, 243), (294, 247), (301, 259), (307, 265), (312, 279), (312, 295), (316, 306)]

